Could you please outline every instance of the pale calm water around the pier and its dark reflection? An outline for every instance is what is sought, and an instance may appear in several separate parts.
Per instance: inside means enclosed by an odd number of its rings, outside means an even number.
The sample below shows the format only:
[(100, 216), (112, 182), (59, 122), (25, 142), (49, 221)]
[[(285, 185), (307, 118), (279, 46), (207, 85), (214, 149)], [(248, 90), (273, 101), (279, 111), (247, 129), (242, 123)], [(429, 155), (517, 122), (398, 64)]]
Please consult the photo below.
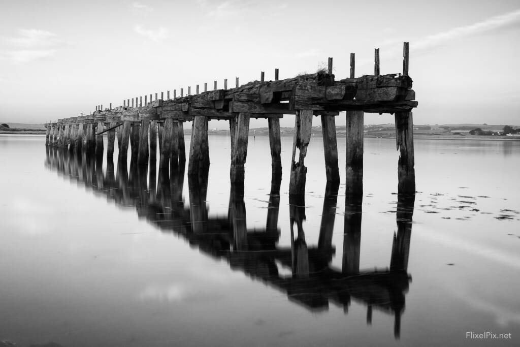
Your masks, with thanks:
[(269, 139), (249, 141), (242, 200), (229, 137), (210, 136), (207, 191), (190, 192), (185, 173), (0, 135), (0, 346), (518, 345), (520, 142), (416, 140), (418, 193), (398, 209), (394, 140), (365, 140), (346, 207), (321, 138), (304, 206), (287, 195), (292, 137), (280, 195)]

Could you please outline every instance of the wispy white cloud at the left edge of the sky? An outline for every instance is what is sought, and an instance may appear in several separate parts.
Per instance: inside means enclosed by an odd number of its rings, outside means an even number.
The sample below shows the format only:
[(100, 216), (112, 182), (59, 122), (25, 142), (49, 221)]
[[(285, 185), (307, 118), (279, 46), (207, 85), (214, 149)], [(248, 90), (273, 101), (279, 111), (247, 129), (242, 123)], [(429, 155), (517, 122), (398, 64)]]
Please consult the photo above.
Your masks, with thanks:
[(3, 57), (14, 63), (27, 63), (54, 56), (59, 48), (69, 45), (57, 34), (40, 29), (19, 29), (18, 35), (5, 38), (11, 46)]

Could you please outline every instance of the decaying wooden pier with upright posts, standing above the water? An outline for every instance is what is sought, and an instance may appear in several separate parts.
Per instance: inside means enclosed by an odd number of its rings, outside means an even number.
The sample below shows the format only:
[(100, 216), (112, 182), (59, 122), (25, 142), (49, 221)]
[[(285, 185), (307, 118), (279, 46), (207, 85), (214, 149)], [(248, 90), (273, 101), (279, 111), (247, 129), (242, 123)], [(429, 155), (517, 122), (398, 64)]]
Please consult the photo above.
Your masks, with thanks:
[(115, 137), (119, 149), (119, 159), (126, 160), (128, 146), (131, 147), (132, 161), (145, 164), (157, 160), (159, 142), (160, 169), (179, 166), (186, 162), (184, 127), (192, 122), (191, 142), (188, 159), (190, 177), (207, 175), (210, 165), (210, 148), (207, 139), (208, 121), (229, 121), (231, 137), (230, 181), (243, 188), (245, 163), (248, 152), (250, 118), (265, 118), (269, 125), (271, 171), (278, 176), (282, 171), (280, 160), (280, 118), (294, 114), (294, 141), (290, 164), (289, 194), (303, 196), (307, 167), (305, 157), (310, 145), (313, 115), (321, 118), (323, 148), (327, 182), (337, 184), (340, 180), (338, 167), (335, 117), (346, 111), (346, 185), (347, 194), (361, 194), (363, 165), (363, 113), (390, 113), (395, 116), (398, 162), (399, 194), (414, 194), (413, 122), (412, 109), (417, 107), (412, 79), (408, 75), (408, 43), (403, 50), (402, 73), (380, 74), (379, 48), (374, 52), (374, 74), (355, 77), (355, 56), (350, 56), (350, 75), (337, 79), (333, 72), (332, 58), (328, 69), (314, 74), (298, 75), (279, 80), (278, 69), (274, 81), (265, 81), (264, 72), (260, 81), (239, 85), (235, 88), (218, 89), (180, 96), (176, 91), (155, 93), (123, 101), (123, 106), (110, 105), (89, 115), (59, 119), (45, 124), (46, 145), (68, 148), (73, 152), (86, 151), (103, 153), (103, 135), (108, 136), (107, 157), (112, 158)]

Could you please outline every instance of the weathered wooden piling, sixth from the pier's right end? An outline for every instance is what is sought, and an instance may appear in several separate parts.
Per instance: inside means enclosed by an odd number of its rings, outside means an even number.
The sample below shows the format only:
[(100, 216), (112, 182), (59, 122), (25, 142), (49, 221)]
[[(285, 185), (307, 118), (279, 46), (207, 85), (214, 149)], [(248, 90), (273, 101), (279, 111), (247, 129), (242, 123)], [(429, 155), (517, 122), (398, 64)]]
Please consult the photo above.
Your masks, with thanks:
[(233, 146), (233, 156), (231, 158), (231, 184), (243, 184), (244, 182), (244, 164), (248, 155), (250, 116), (250, 113), (239, 113), (237, 118), (235, 146)]

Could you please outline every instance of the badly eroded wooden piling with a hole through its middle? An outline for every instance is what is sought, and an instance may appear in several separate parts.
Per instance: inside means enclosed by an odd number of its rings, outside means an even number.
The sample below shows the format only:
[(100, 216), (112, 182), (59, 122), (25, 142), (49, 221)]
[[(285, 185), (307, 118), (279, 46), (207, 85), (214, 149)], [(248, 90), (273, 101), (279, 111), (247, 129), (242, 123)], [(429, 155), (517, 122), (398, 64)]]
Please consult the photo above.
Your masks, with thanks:
[[(313, 111), (302, 110), (296, 112), (294, 125), (293, 154), (291, 162), (291, 178), (289, 182), (290, 195), (305, 194), (305, 175), (307, 168), (304, 165), (307, 147), (310, 142), (310, 132), (313, 123)], [(299, 150), (296, 162), (296, 149)]]

